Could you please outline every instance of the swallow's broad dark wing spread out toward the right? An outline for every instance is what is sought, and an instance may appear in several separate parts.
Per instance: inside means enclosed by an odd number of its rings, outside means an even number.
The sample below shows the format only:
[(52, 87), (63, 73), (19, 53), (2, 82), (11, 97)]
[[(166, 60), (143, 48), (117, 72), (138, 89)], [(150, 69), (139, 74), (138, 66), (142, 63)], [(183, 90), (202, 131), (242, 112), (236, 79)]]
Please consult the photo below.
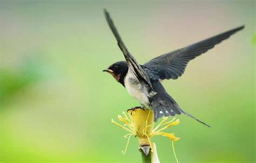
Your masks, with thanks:
[(162, 80), (177, 79), (184, 73), (187, 63), (190, 62), (190, 60), (212, 49), (216, 44), (243, 28), (244, 26), (240, 26), (217, 36), (202, 40), (196, 44), (166, 53), (165, 55), (150, 60), (145, 63), (144, 66), (154, 72), (155, 78)]

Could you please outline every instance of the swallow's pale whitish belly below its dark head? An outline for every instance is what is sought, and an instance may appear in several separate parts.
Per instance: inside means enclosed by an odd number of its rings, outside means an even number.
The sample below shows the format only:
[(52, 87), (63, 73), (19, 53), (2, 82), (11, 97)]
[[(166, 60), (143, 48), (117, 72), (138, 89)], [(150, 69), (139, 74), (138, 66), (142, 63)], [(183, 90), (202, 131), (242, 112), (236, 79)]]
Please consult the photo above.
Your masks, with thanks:
[(130, 71), (124, 79), (124, 85), (128, 93), (139, 101), (144, 106), (149, 106), (149, 93), (147, 87), (141, 84), (137, 77)]

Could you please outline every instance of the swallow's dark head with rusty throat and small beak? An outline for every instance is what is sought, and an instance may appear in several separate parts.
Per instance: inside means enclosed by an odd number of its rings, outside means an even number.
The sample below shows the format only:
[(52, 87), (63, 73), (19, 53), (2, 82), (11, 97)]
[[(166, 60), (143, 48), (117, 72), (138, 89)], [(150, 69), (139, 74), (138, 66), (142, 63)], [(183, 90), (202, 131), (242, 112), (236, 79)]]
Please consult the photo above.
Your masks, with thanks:
[(109, 72), (117, 81), (120, 82), (120, 79), (124, 79), (128, 71), (128, 64), (126, 61), (119, 61), (113, 63), (109, 68), (103, 71)]

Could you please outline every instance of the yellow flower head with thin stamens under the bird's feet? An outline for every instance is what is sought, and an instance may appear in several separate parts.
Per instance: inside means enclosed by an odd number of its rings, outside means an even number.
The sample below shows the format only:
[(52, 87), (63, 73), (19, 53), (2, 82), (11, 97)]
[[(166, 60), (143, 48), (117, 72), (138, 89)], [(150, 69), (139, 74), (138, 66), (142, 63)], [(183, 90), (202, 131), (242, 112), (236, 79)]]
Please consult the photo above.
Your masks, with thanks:
[[(163, 120), (160, 121), (160, 123), (156, 127), (154, 127), (153, 112), (151, 110), (149, 109), (145, 109), (145, 110), (136, 109), (134, 111), (129, 110), (128, 114), (129, 114), (129, 117), (125, 112), (123, 112), (123, 117), (121, 115), (118, 115), (118, 120), (122, 121), (123, 125), (117, 123), (113, 119), (111, 120), (113, 124), (116, 124), (129, 132), (129, 134), (124, 135), (124, 137), (127, 138), (127, 144), (126, 144), (125, 150), (122, 151), (123, 154), (125, 154), (127, 150), (127, 147), (129, 145), (129, 141), (132, 135), (135, 135), (138, 137), (140, 147), (149, 145), (151, 148), (151, 152), (153, 152), (153, 147), (150, 139), (156, 135), (162, 135), (164, 137), (171, 139), (172, 147), (173, 147), (173, 141), (179, 140), (179, 138), (176, 138), (173, 133), (162, 132), (166, 128), (169, 128), (174, 125), (178, 125), (179, 119), (175, 120), (175, 118), (173, 118), (172, 120), (167, 121), (168, 117), (164, 117)], [(174, 147), (173, 147), (173, 152), (177, 160)]]

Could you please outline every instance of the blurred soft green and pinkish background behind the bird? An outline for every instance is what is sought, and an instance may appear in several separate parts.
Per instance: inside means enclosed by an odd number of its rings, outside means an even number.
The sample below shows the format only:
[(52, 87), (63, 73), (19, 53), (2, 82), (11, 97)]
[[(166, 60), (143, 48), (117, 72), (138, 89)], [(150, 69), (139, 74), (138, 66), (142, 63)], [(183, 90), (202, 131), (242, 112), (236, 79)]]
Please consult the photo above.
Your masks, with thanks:
[[(255, 1), (0, 1), (1, 162), (141, 162), (111, 124), (138, 102), (110, 74), (124, 60), (110, 11), (143, 64), (245, 24), (245, 29), (163, 82), (185, 111), (169, 128), (180, 162), (255, 162)], [(170, 140), (153, 138), (162, 162)]]

